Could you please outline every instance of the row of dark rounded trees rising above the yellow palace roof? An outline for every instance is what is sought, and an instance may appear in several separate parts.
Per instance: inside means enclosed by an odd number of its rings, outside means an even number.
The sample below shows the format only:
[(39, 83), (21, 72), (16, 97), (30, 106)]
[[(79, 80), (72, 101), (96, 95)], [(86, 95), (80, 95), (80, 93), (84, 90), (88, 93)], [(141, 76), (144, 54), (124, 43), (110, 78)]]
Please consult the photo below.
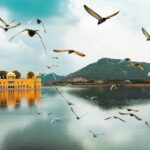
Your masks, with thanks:
[[(0, 78), (1, 79), (6, 79), (6, 75), (7, 75), (7, 71), (5, 70), (0, 70)], [(13, 73), (16, 74), (16, 79), (20, 79), (21, 78), (21, 73), (17, 70), (14, 70)], [(33, 78), (34, 77), (34, 73), (32, 71), (29, 71), (27, 73), (27, 78)]]

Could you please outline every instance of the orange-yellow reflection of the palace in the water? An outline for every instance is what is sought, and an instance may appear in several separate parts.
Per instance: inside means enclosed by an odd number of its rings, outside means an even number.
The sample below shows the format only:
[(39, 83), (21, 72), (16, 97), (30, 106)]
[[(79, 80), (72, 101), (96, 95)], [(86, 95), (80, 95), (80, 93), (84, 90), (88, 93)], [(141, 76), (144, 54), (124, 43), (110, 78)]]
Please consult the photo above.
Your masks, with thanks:
[(22, 101), (26, 101), (29, 107), (40, 105), (41, 89), (0, 90), (0, 108), (17, 109), (21, 106)]

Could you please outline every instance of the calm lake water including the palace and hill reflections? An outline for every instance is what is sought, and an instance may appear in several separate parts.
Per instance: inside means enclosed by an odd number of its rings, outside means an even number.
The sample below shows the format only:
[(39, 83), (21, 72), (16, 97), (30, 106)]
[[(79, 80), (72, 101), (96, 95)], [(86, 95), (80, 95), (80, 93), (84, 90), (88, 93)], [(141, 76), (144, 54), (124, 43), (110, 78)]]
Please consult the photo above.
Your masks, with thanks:
[[(55, 87), (0, 91), (0, 150), (150, 150), (150, 89)], [(91, 100), (89, 97), (96, 96)], [(80, 117), (76, 119), (71, 107)], [(133, 112), (138, 121), (118, 107)], [(51, 113), (53, 112), (53, 113)], [(111, 116), (118, 119), (104, 120)], [(94, 138), (89, 132), (102, 133)]]

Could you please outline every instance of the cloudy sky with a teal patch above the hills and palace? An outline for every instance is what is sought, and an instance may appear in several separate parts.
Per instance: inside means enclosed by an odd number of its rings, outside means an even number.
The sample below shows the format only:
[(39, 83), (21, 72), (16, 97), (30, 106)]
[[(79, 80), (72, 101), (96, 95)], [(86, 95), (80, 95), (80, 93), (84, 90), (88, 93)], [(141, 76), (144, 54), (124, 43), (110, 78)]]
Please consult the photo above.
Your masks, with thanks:
[[(120, 13), (98, 26), (84, 4), (101, 16)], [(101, 58), (150, 62), (150, 43), (141, 32), (141, 27), (150, 32), (149, 5), (150, 0), (1, 0), (0, 17), (8, 23), (15, 19), (21, 26), (8, 32), (0, 29), (0, 70), (19, 70), (23, 76), (28, 71), (67, 75)], [(46, 34), (36, 22), (28, 23), (37, 18), (44, 22)], [(9, 41), (25, 28), (40, 30), (47, 56), (37, 36), (22, 33)], [(53, 49), (79, 50), (86, 57), (56, 54)]]

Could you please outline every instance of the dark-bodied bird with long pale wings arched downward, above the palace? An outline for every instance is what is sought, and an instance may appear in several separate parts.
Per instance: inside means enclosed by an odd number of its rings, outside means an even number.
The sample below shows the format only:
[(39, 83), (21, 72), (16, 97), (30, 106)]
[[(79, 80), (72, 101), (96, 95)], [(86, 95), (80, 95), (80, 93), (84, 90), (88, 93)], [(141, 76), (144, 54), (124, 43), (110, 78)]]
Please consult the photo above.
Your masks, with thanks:
[(43, 45), (44, 50), (45, 50), (45, 54), (47, 54), (45, 44), (44, 44), (44, 42), (43, 42), (43, 40), (42, 40), (41, 35), (38, 33), (38, 31), (39, 31), (39, 30), (24, 29), (24, 30), (20, 31), (19, 33), (17, 33), (16, 35), (14, 35), (13, 37), (11, 37), (11, 38), (9, 39), (9, 41), (12, 41), (16, 36), (18, 36), (19, 34), (21, 34), (21, 33), (23, 33), (23, 32), (27, 32), (27, 33), (28, 33), (28, 36), (31, 37), (31, 38), (34, 37), (35, 35), (37, 35), (37, 36), (40, 38), (41, 42), (42, 42), (42, 45)]

